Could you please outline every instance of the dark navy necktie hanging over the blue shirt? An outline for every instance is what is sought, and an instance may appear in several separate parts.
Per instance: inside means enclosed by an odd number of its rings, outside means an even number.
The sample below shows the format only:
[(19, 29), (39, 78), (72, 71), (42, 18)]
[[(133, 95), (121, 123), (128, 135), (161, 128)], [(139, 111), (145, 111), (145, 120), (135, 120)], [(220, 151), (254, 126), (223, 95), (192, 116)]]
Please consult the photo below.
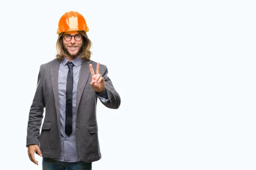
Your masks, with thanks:
[(66, 88), (66, 122), (65, 133), (69, 136), (72, 133), (72, 94), (73, 94), (73, 63), (68, 62), (69, 68), (67, 73), (67, 88)]

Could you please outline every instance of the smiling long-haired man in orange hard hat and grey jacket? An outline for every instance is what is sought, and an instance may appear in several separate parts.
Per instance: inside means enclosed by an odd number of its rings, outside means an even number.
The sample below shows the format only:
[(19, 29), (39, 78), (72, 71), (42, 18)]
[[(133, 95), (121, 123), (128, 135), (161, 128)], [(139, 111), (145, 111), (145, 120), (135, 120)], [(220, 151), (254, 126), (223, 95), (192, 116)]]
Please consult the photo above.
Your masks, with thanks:
[(43, 169), (91, 170), (101, 159), (97, 99), (107, 108), (120, 106), (107, 67), (90, 60), (87, 31), (81, 14), (66, 12), (58, 23), (56, 59), (40, 66), (26, 146), (35, 164), (34, 153), (43, 157)]

